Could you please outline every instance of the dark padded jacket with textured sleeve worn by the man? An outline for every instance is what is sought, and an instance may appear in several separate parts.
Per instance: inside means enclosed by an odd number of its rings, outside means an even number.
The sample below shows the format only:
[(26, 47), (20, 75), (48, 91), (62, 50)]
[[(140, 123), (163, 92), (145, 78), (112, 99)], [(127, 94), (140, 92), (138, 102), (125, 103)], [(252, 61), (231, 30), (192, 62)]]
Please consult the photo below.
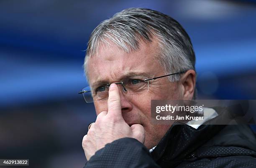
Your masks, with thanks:
[(115, 140), (84, 168), (256, 168), (256, 135), (248, 125), (215, 125), (223, 112), (197, 129), (174, 123), (152, 153), (136, 139)]

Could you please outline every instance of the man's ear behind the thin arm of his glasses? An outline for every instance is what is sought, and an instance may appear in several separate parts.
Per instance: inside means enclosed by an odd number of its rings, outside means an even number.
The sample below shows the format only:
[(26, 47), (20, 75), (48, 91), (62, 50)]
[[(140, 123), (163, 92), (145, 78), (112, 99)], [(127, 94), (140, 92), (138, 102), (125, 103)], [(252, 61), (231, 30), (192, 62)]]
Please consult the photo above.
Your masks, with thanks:
[(195, 92), (196, 72), (188, 70), (180, 79), (183, 92), (183, 100), (192, 100)]

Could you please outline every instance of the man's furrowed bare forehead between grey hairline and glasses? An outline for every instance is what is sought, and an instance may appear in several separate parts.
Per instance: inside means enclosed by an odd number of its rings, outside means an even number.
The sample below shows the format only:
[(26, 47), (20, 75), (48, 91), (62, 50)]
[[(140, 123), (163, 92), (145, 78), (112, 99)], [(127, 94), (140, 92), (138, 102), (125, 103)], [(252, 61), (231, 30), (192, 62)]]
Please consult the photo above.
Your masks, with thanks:
[(157, 47), (154, 40), (142, 42), (139, 50), (126, 53), (115, 45), (103, 45), (97, 55), (87, 60), (90, 85), (103, 81), (111, 83), (124, 76), (154, 75), (162, 70), (157, 62)]

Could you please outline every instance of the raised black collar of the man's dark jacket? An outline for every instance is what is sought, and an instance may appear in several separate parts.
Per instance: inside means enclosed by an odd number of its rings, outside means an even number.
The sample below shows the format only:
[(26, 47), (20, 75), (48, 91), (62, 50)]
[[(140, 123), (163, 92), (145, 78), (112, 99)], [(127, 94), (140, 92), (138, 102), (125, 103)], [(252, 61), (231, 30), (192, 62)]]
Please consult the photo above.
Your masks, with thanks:
[(223, 109), (218, 109), (218, 111), (220, 113), (217, 117), (206, 121), (197, 129), (181, 122), (175, 122), (151, 153), (154, 160), (160, 163), (161, 160), (183, 160), (187, 158), (190, 153), (226, 126), (215, 125), (216, 122), (221, 123), (221, 120), (226, 119), (227, 115)]

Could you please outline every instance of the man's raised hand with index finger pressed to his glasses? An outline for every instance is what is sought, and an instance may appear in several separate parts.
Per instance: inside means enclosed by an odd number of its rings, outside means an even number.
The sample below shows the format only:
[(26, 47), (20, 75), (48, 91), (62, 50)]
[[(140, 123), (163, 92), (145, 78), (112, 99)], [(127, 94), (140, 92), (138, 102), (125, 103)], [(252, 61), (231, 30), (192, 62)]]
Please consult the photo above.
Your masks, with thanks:
[(82, 147), (85, 157), (90, 160), (97, 150), (105, 147), (114, 140), (130, 137), (141, 143), (145, 140), (145, 131), (142, 125), (134, 124), (131, 127), (125, 123), (121, 112), (121, 103), (118, 87), (115, 83), (110, 85), (108, 96), (108, 112), (102, 111), (94, 124), (91, 125), (87, 135), (84, 135)]

